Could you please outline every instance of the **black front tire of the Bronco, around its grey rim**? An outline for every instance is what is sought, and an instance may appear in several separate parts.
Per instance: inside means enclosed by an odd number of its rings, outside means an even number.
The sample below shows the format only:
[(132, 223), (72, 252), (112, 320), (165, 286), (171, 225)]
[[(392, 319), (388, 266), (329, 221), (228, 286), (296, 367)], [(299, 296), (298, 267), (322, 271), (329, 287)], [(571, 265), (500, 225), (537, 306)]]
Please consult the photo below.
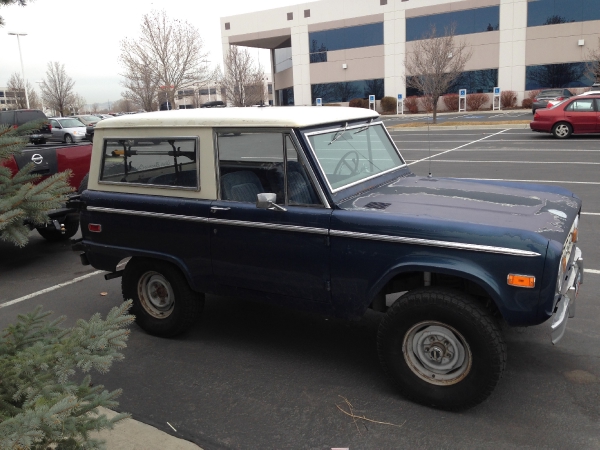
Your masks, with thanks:
[[(418, 376), (407, 362), (405, 341), (420, 323), (440, 323), (464, 338), (470, 369), (454, 384)], [(415, 402), (446, 410), (464, 410), (483, 402), (506, 367), (506, 344), (500, 328), (483, 305), (452, 289), (420, 288), (400, 297), (382, 319), (377, 334), (379, 360), (400, 393)], [(415, 353), (413, 352), (413, 358)]]

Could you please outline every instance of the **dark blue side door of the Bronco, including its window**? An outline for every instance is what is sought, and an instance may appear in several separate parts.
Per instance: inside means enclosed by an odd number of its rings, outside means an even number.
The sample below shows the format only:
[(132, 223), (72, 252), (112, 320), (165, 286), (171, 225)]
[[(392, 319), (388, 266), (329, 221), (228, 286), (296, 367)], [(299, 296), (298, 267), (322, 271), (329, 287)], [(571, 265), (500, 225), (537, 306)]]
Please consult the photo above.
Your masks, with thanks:
[[(220, 200), (211, 206), (211, 258), (221, 285), (294, 301), (329, 301), (331, 209), (289, 133), (217, 134)], [(276, 194), (269, 209), (258, 193)]]

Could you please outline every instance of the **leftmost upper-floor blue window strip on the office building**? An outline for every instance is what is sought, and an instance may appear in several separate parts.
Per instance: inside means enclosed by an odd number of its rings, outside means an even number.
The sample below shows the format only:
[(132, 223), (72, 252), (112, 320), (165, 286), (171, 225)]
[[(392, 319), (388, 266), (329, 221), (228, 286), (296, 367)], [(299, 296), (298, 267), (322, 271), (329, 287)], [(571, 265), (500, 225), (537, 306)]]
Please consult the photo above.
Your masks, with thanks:
[(383, 45), (383, 22), (308, 33), (310, 62), (326, 62), (327, 52)]

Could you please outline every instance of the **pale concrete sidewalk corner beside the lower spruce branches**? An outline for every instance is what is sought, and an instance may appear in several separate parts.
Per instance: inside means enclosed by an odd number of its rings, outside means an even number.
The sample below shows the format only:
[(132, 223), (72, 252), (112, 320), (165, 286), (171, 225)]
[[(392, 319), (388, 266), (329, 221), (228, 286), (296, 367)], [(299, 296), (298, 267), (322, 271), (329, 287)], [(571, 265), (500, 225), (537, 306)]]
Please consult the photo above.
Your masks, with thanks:
[[(117, 414), (106, 408), (100, 408), (100, 413), (109, 418)], [(133, 419), (122, 421), (112, 430), (92, 433), (92, 437), (105, 440), (107, 450), (202, 450), (196, 444)]]

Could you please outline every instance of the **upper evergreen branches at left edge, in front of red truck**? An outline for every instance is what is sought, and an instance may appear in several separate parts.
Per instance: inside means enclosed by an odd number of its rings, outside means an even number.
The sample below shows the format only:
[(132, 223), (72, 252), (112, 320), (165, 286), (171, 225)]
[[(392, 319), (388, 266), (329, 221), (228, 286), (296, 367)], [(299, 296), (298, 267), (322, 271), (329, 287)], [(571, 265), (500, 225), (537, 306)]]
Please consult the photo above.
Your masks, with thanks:
[(47, 212), (60, 208), (73, 189), (69, 186), (70, 171), (58, 173), (40, 181), (34, 175), (35, 164), (29, 163), (17, 173), (3, 166), (13, 155), (21, 153), (29, 142), (28, 135), (41, 127), (41, 122), (29, 122), (17, 129), (0, 125), (0, 240), (24, 246), (29, 239), (27, 224), (43, 225), (49, 221)]

